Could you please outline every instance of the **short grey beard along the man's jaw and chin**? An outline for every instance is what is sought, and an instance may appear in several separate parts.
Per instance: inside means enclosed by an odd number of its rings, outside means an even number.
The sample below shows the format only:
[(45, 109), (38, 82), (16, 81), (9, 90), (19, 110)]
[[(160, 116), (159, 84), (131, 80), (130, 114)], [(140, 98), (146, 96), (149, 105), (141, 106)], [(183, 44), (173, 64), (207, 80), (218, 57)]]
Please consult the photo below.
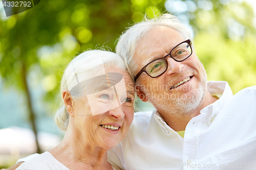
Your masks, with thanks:
[(189, 91), (181, 96), (153, 94), (152, 91), (144, 88), (143, 92), (146, 98), (150, 100), (153, 106), (161, 112), (169, 112), (186, 115), (195, 110), (203, 102), (207, 89), (207, 76), (206, 72), (202, 77), (201, 82), (196, 90)]

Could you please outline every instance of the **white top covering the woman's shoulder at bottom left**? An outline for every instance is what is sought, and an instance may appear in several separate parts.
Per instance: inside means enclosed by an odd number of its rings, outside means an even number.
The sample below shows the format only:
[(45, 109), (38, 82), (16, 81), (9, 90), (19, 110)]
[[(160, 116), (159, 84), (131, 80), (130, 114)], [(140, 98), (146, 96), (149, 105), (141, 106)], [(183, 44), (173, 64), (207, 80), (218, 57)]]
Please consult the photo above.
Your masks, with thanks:
[(65, 165), (55, 159), (49, 152), (42, 153), (35, 158), (22, 163), (16, 170), (69, 170)]

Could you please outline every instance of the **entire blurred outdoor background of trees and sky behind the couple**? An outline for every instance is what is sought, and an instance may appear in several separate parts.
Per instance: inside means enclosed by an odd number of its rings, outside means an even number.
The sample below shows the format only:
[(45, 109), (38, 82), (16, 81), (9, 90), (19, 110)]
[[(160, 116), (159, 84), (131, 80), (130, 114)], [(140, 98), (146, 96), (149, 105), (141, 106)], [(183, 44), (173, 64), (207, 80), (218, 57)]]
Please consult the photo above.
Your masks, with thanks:
[[(0, 168), (61, 141), (53, 115), (65, 66), (88, 48), (114, 52), (116, 39), (144, 14), (170, 12), (189, 27), (208, 81), (227, 81), (233, 93), (256, 85), (255, 6), (254, 0), (41, 0), (7, 17), (0, 1)], [(138, 110), (153, 109), (138, 101)]]

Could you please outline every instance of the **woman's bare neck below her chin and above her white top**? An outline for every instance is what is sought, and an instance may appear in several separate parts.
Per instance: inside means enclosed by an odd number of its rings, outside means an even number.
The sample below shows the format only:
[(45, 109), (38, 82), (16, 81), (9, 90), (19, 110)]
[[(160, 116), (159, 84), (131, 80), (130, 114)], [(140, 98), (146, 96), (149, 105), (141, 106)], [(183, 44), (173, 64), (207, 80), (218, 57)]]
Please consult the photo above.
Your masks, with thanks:
[(97, 147), (92, 142), (81, 140), (71, 128), (68, 128), (63, 140), (49, 151), (55, 159), (69, 169), (113, 169), (107, 160), (108, 150)]

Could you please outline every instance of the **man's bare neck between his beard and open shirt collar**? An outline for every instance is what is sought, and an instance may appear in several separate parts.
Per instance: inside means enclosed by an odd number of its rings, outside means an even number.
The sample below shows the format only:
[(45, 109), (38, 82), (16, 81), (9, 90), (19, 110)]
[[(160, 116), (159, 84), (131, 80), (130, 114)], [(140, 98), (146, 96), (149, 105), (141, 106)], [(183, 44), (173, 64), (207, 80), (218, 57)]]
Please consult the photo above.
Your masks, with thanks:
[[(182, 131), (186, 129), (188, 122), (193, 118), (200, 114), (200, 111), (206, 106), (214, 103), (218, 99), (211, 96), (210, 92), (207, 90), (205, 98), (201, 102), (201, 104), (193, 110), (189, 111), (177, 111), (176, 110), (168, 110), (166, 109), (158, 109), (158, 112), (161, 114), (166, 124), (175, 131)], [(174, 109), (174, 108), (170, 108)]]

